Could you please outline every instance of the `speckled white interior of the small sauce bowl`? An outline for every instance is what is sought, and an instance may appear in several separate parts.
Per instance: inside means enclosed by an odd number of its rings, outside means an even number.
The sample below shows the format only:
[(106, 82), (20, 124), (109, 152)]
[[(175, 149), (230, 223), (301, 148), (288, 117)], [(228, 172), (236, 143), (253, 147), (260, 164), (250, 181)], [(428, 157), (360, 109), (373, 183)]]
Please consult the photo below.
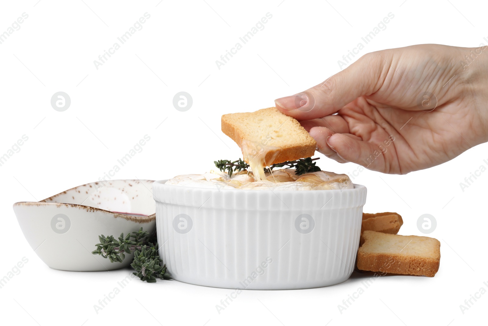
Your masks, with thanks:
[(155, 213), (153, 180), (110, 180), (87, 183), (49, 198), (46, 203), (78, 204), (132, 216)]

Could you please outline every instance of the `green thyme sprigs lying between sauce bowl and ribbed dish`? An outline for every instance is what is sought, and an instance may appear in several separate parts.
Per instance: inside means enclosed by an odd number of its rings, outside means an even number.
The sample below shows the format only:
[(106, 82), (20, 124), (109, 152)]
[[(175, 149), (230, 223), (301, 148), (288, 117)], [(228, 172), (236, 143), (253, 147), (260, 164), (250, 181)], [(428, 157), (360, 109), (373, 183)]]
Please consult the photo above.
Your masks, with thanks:
[(104, 235), (99, 236), (98, 239), (100, 243), (95, 245), (97, 249), (92, 252), (93, 255), (101, 255), (103, 258), (108, 258), (110, 262), (122, 262), (125, 253), (134, 252), (134, 260), (130, 265), (135, 270), (133, 274), (142, 281), (154, 283), (156, 278), (170, 278), (166, 274), (166, 265), (161, 265), (156, 234), (150, 234), (140, 228), (132, 234), (127, 233), (125, 237), (122, 233), (118, 240), (113, 236)]

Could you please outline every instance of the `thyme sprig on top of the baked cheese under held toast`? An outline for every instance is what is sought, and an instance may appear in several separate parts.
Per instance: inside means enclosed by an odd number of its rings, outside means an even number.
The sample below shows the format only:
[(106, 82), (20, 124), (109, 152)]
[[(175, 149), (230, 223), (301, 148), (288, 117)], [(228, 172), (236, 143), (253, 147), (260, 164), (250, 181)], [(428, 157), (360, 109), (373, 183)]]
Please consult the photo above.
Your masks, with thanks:
[[(317, 171), (322, 171), (318, 166), (316, 166), (317, 162), (313, 162), (315, 160), (318, 160), (320, 157), (316, 158), (311, 158), (311, 157), (306, 157), (306, 158), (301, 158), (296, 161), (286, 161), (283, 163), (279, 164), (273, 164), (269, 167), (266, 167), (266, 170), (271, 171), (274, 168), (283, 168), (283, 167), (288, 167), (288, 168), (295, 168), (295, 174), (301, 175), (305, 174), (308, 172), (317, 172)], [(230, 161), (230, 160), (218, 160), (214, 161), (215, 166), (222, 172), (227, 171), (229, 176), (232, 176), (232, 173), (234, 171), (241, 171), (245, 170), (249, 167), (249, 164), (247, 164), (244, 160), (239, 158), (236, 161)]]

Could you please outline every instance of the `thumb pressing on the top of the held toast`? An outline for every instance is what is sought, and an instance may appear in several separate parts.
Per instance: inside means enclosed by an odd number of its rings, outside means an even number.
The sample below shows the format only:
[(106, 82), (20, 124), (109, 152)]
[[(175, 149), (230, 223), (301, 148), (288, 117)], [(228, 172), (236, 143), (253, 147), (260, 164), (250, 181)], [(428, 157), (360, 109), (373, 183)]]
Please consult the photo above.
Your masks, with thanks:
[(325, 82), (275, 100), (276, 108), (299, 121), (337, 112), (356, 98), (371, 95), (381, 87), (388, 68), (383, 58), (386, 58), (385, 53), (368, 53)]

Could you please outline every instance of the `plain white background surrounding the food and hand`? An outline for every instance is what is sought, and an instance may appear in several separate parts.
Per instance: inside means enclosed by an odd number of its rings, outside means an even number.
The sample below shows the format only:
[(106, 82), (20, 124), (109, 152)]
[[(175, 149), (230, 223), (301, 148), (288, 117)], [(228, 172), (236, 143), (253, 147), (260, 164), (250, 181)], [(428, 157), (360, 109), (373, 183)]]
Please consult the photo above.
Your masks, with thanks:
[[(29, 15), (0, 44), (0, 155), (22, 135), (28, 136), (20, 152), (0, 166), (0, 277), (22, 257), (28, 259), (20, 274), (0, 289), (2, 324), (486, 323), (488, 294), (464, 314), (459, 305), (480, 287), (488, 289), (483, 284), (488, 281), (488, 173), (464, 192), (459, 184), (480, 165), (488, 166), (483, 162), (488, 160), (487, 144), (424, 171), (385, 175), (366, 170), (354, 178), (368, 188), (366, 212), (402, 214), (405, 224), (400, 234), (423, 235), (417, 218), (433, 215), (437, 228), (430, 236), (441, 241), (442, 259), (434, 278), (381, 277), (342, 314), (337, 305), (361, 286), (361, 274), (325, 288), (244, 291), (220, 314), (215, 305), (230, 290), (134, 280), (97, 314), (93, 305), (130, 271), (50, 269), (24, 239), (12, 204), (41, 200), (98, 180), (146, 134), (151, 139), (142, 152), (113, 178), (165, 179), (203, 173), (213, 168), (216, 159), (237, 159), (240, 149), (220, 131), (222, 114), (267, 108), (275, 98), (324, 81), (340, 70), (337, 61), (389, 12), (394, 19), (361, 54), (419, 43), (487, 43), (483, 40), (488, 37), (487, 4), (466, 0), (37, 1), (0, 5), (0, 33), (22, 13)], [(151, 17), (142, 30), (97, 70), (93, 61), (145, 12)], [(215, 61), (268, 12), (272, 19), (264, 30), (219, 70)], [(64, 112), (50, 105), (58, 91), (71, 98)], [(186, 112), (172, 105), (179, 91), (193, 97)], [(357, 169), (355, 164), (339, 164), (323, 156), (318, 165), (337, 173)]]

